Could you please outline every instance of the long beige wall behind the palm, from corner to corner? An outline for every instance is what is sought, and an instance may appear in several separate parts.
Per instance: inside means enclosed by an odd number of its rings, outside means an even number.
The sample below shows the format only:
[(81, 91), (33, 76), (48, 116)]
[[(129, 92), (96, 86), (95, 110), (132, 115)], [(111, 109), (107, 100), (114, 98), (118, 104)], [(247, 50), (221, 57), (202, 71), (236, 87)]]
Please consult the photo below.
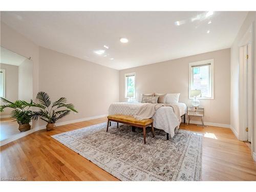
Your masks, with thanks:
[(106, 115), (119, 101), (118, 70), (42, 47), (39, 63), (39, 90), (52, 100), (66, 97), (79, 112), (58, 122)]

